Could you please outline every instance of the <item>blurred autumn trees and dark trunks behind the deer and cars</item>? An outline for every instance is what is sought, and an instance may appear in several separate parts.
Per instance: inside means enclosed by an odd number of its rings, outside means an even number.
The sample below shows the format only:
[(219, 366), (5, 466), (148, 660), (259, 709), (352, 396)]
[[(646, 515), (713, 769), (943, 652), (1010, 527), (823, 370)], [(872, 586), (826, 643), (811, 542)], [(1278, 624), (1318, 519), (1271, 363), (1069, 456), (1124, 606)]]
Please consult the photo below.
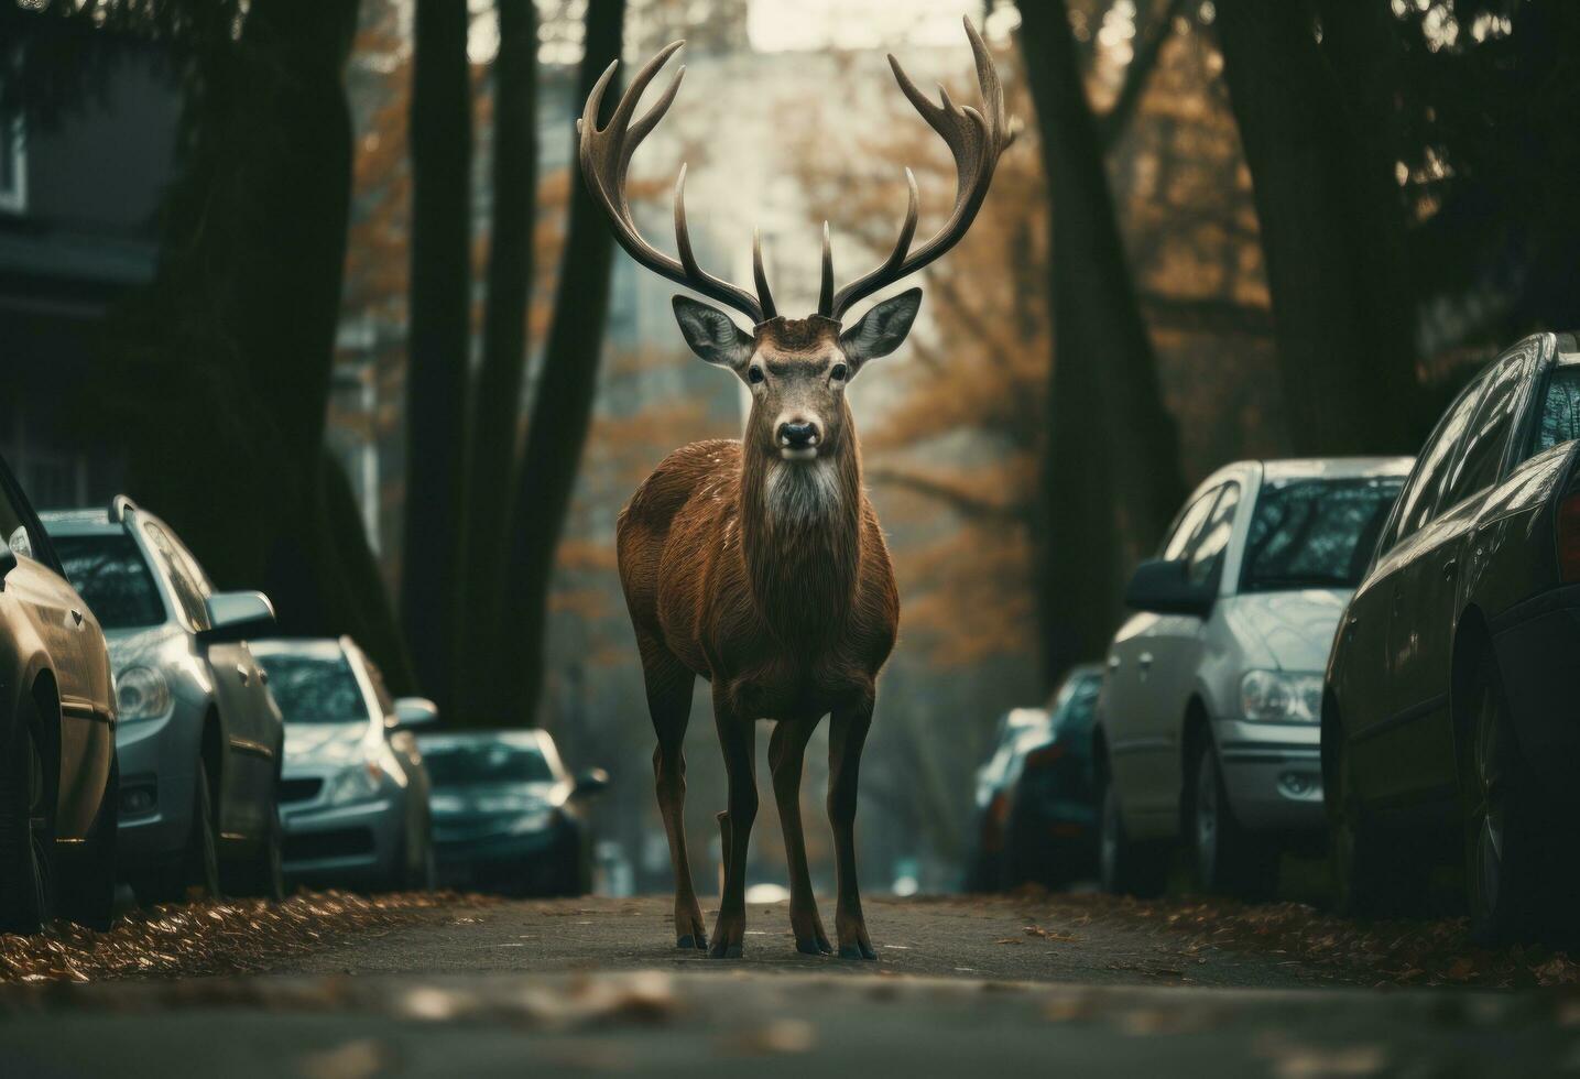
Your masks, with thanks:
[[(269, 589), (289, 632), (357, 635), (449, 722), (551, 727), (611, 768), (604, 833), (660, 883), (613, 518), (668, 450), (736, 434), (743, 398), (684, 352), (672, 289), (613, 258), (572, 122), (611, 58), (687, 38), (686, 88), (632, 164), (637, 218), (670, 243), (689, 161), (703, 264), (746, 278), (760, 224), (776, 295), (811, 310), (825, 218), (847, 275), (888, 250), (904, 166), (921, 227), (946, 212), (948, 156), (882, 52), (973, 101), (959, 14), (6, 0), (0, 444), (60, 491), (40, 501), (128, 490), (221, 585)], [(852, 387), (905, 602), (864, 864), (924, 885), (957, 864), (997, 714), (1101, 652), (1188, 485), (1236, 457), (1408, 450), (1496, 348), (1580, 324), (1575, 5), (972, 14), (1025, 130), (924, 272), (912, 343)], [(179, 122), (144, 139), (171, 147), (163, 197), (114, 231), (60, 207), (130, 199), (73, 142), (131, 123), (128, 71)], [(71, 183), (8, 194), (6, 167), (68, 144), (90, 147)], [(144, 269), (82, 276), (88, 246), (131, 245)], [(692, 769), (697, 836), (714, 773)]]

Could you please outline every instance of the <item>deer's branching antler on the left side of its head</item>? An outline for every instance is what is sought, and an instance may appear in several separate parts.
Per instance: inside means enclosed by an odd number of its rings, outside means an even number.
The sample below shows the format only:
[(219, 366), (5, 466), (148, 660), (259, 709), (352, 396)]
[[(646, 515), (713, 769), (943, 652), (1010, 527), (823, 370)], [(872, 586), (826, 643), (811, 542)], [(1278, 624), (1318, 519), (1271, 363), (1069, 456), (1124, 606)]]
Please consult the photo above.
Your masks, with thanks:
[(752, 243), (752, 262), (757, 278), (757, 297), (754, 297), (746, 289), (722, 281), (700, 265), (697, 265), (697, 256), (692, 253), (690, 235), (686, 231), (686, 166), (681, 166), (679, 179), (675, 182), (675, 246), (679, 251), (679, 259), (672, 259), (664, 251), (659, 251), (637, 231), (637, 223), (630, 216), (630, 202), (626, 197), (626, 167), (630, 164), (630, 155), (637, 152), (641, 141), (648, 137), (653, 128), (657, 126), (659, 120), (668, 111), (670, 104), (675, 101), (675, 93), (681, 88), (681, 77), (686, 74), (686, 68), (681, 68), (675, 74), (675, 81), (664, 92), (659, 101), (648, 109), (635, 123), (630, 122), (632, 114), (637, 111), (637, 100), (641, 92), (648, 88), (659, 70), (668, 62), (675, 52), (686, 44), (684, 41), (675, 41), (665, 46), (656, 57), (643, 65), (641, 71), (630, 81), (630, 87), (619, 98), (619, 104), (615, 107), (615, 115), (610, 117), (608, 126), (599, 130), (597, 114), (599, 106), (604, 103), (604, 92), (608, 88), (610, 79), (615, 77), (615, 70), (619, 62), (608, 65), (604, 74), (599, 77), (597, 84), (592, 87), (592, 93), (588, 95), (586, 109), (581, 112), (581, 118), (577, 120), (577, 133), (580, 134), (580, 156), (581, 156), (581, 175), (592, 191), (592, 197), (597, 199), (599, 205), (608, 215), (610, 226), (615, 229), (615, 239), (619, 245), (626, 248), (630, 258), (637, 259), (641, 265), (648, 267), (654, 273), (668, 278), (678, 284), (684, 284), (689, 289), (695, 289), (706, 297), (717, 300), (727, 306), (733, 306), (741, 311), (754, 324), (765, 319), (774, 318), (774, 300), (768, 291), (768, 280), (763, 275), (763, 254), (762, 245), (754, 240)]

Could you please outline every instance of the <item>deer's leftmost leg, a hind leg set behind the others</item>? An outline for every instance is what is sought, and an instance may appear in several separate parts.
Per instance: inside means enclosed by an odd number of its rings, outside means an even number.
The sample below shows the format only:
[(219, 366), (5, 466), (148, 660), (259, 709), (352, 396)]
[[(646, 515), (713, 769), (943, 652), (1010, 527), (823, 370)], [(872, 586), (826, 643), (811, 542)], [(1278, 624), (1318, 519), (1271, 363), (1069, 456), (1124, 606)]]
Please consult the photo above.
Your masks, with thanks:
[(641, 673), (648, 687), (648, 711), (659, 744), (653, 750), (653, 780), (659, 795), (659, 817), (670, 840), (670, 869), (675, 872), (675, 946), (708, 948), (702, 907), (692, 886), (686, 855), (686, 725), (697, 676), (660, 645), (643, 643)]

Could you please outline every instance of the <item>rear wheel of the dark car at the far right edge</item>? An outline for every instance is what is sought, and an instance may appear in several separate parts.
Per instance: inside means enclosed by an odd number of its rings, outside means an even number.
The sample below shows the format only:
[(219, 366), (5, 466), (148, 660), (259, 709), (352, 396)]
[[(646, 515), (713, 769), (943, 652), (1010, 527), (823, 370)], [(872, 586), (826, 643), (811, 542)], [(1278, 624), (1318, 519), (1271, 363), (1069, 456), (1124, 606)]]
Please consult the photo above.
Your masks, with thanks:
[(1547, 856), (1490, 657), (1477, 671), (1473, 700), (1458, 752), (1465, 897), (1471, 935), (1480, 943), (1509, 943), (1550, 929), (1553, 912), (1542, 899), (1556, 897), (1545, 893), (1558, 891), (1552, 875), (1564, 872), (1567, 859), (1558, 852)]

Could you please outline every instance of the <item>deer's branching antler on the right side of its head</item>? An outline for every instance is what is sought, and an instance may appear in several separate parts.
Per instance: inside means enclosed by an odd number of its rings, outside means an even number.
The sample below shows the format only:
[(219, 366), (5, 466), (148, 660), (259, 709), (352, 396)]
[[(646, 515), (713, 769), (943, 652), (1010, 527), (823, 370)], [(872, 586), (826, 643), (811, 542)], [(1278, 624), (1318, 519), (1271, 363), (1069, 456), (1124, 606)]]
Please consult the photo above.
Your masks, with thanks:
[[(983, 199), (988, 197), (988, 185), (992, 183), (994, 166), (999, 164), (999, 155), (1014, 142), (1018, 125), (1014, 120), (1005, 118), (1003, 85), (999, 82), (999, 71), (992, 66), (992, 55), (988, 52), (988, 46), (983, 44), (972, 21), (967, 17), (964, 22), (965, 36), (972, 39), (972, 54), (976, 57), (976, 84), (983, 93), (983, 112), (970, 106), (956, 106), (950, 100), (950, 92), (942, 85), (939, 87), (942, 104), (932, 104), (916, 88), (916, 84), (910, 81), (905, 70), (899, 66), (899, 60), (890, 54), (890, 66), (894, 70), (894, 79), (899, 82), (901, 92), (910, 98), (921, 118), (939, 133), (954, 155), (954, 212), (950, 213), (950, 220), (945, 221), (943, 227), (932, 239), (915, 251), (910, 251), (912, 237), (916, 234), (916, 177), (910, 169), (905, 169), (910, 202), (905, 207), (905, 221), (901, 224), (894, 250), (882, 265), (839, 289), (833, 299), (830, 299), (830, 289), (825, 286), (817, 306), (818, 314), (839, 319), (858, 300), (872, 295), (885, 284), (915, 273), (937, 259), (959, 243), (965, 231), (972, 227)], [(828, 240), (825, 239), (823, 280), (831, 281), (831, 278), (833, 259), (830, 258)]]

